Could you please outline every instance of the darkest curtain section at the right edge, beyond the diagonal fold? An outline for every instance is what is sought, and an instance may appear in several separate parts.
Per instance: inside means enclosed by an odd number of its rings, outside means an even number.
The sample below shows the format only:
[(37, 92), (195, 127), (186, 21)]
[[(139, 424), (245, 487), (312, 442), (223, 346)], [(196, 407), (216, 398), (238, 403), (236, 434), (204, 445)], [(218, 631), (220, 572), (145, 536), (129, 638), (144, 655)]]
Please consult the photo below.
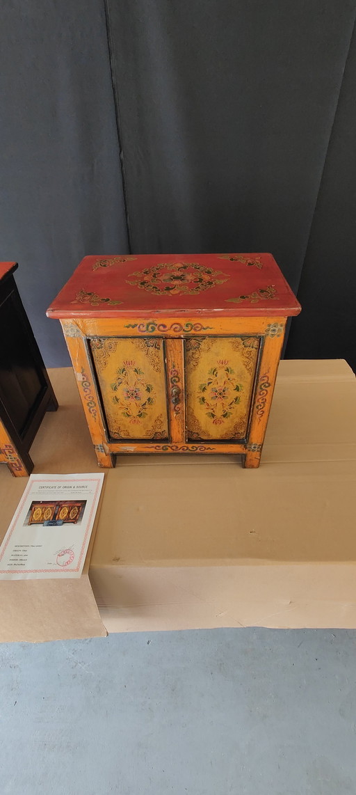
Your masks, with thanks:
[(286, 356), (346, 359), (356, 372), (356, 31), (345, 72), (300, 278), (303, 312)]

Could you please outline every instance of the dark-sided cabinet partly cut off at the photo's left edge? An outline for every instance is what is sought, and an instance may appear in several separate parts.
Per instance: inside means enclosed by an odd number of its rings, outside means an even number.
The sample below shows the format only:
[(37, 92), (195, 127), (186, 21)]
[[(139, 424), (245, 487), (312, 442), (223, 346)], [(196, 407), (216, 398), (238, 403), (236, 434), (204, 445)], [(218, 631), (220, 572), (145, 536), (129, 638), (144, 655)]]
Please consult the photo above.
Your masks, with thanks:
[(58, 403), (14, 280), (16, 262), (0, 262), (0, 462), (29, 475), (29, 448), (46, 411)]

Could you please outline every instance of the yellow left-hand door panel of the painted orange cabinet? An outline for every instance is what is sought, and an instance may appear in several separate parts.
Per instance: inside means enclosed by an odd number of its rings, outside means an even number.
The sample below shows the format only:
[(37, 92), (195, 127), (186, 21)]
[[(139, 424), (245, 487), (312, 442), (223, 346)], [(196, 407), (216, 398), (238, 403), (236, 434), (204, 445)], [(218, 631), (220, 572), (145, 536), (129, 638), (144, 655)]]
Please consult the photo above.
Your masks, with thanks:
[(168, 439), (163, 339), (90, 341), (110, 439)]

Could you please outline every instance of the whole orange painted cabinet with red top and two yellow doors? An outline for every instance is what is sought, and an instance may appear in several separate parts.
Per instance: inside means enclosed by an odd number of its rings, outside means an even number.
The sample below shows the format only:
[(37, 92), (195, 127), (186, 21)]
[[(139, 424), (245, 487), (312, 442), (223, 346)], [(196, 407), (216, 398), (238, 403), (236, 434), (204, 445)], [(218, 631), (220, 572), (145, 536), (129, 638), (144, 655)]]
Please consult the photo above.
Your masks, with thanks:
[(233, 452), (258, 467), (288, 316), (271, 254), (86, 257), (59, 318), (100, 466)]

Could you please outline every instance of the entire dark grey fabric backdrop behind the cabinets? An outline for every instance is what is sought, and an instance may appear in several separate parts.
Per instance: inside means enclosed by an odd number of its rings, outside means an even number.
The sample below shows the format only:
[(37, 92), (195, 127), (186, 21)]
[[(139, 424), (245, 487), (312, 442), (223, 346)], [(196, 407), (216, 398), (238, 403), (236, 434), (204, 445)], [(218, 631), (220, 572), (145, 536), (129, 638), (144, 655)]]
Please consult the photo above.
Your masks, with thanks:
[(68, 363), (45, 308), (84, 254), (270, 250), (304, 308), (287, 355), (355, 366), (356, 0), (22, 6), (1, 258), (46, 363)]

